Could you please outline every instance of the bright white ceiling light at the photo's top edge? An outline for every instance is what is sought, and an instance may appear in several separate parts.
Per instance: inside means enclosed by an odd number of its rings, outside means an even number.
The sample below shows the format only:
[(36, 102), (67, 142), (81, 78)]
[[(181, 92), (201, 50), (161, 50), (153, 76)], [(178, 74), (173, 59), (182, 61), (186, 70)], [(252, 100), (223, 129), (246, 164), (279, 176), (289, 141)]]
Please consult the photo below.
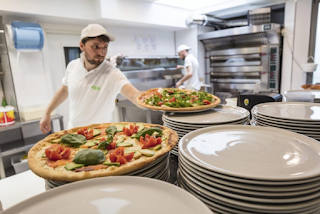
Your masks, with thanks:
[(154, 3), (178, 7), (186, 10), (198, 10), (230, 0), (155, 0)]

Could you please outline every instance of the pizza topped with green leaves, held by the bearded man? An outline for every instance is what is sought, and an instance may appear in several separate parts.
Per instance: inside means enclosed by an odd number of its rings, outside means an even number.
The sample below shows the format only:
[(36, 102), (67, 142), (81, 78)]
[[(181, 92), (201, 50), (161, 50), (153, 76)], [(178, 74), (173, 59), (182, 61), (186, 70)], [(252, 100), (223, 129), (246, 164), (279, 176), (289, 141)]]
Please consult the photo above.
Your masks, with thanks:
[(140, 106), (163, 111), (194, 111), (210, 109), (220, 104), (220, 99), (204, 91), (176, 88), (153, 88), (137, 97)]

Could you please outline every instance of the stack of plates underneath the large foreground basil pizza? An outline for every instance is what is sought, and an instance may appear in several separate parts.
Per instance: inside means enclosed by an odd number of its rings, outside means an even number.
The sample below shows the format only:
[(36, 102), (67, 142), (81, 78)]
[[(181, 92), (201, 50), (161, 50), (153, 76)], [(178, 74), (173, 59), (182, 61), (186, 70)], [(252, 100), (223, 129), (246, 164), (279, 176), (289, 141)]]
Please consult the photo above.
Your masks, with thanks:
[[(149, 163), (143, 168), (138, 169), (134, 172), (130, 172), (125, 175), (148, 177), (148, 178), (154, 178), (162, 181), (169, 181), (170, 179), (169, 153), (161, 156), (159, 159), (155, 160), (152, 163)], [(70, 183), (70, 182), (61, 182), (61, 181), (53, 181), (53, 180), (45, 180), (45, 181), (46, 181), (47, 190)]]

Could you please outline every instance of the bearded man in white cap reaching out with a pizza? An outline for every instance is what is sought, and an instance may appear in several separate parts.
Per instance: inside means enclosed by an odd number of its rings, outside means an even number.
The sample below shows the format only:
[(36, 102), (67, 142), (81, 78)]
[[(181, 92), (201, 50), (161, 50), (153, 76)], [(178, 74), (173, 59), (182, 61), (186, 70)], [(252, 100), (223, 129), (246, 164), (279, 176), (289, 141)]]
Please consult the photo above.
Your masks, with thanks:
[(110, 122), (119, 93), (135, 103), (139, 91), (119, 69), (105, 60), (109, 42), (114, 40), (115, 37), (98, 24), (90, 24), (82, 30), (82, 53), (68, 64), (63, 85), (40, 121), (43, 133), (51, 130), (50, 113), (67, 97), (70, 99), (69, 129)]

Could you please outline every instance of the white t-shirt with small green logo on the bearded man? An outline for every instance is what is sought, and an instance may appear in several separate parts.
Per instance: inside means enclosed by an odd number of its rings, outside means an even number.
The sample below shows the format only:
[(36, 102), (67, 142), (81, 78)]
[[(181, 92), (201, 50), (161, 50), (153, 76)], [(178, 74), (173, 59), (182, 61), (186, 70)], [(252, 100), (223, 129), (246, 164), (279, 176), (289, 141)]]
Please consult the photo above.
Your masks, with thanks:
[(116, 97), (129, 83), (126, 76), (106, 60), (88, 72), (83, 57), (82, 54), (68, 64), (62, 79), (68, 86), (70, 99), (68, 129), (110, 122)]

